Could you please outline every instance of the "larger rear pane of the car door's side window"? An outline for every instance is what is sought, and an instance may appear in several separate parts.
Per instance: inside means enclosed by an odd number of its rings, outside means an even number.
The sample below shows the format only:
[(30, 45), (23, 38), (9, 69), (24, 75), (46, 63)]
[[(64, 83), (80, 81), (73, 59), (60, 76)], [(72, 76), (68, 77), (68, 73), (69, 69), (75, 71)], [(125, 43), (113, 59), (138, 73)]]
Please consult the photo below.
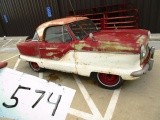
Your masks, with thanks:
[(62, 30), (63, 26), (53, 26), (47, 28), (45, 34), (46, 42), (63, 42)]

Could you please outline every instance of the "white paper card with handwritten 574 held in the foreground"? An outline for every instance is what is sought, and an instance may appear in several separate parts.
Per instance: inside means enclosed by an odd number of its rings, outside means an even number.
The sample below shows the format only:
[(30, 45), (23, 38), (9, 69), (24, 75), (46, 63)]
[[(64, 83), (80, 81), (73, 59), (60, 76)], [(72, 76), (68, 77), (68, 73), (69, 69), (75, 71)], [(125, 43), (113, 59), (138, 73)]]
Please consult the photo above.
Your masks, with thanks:
[(0, 69), (0, 118), (64, 120), (75, 90), (9, 68)]

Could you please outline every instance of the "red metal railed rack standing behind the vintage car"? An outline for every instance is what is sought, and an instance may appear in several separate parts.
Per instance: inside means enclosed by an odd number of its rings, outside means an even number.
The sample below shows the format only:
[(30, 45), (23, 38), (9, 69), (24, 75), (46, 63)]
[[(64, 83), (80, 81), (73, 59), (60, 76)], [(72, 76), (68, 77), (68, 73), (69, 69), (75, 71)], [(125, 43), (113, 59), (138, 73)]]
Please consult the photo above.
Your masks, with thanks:
[(105, 5), (69, 11), (69, 15), (90, 18), (101, 30), (138, 29), (138, 9), (128, 0), (121, 4)]

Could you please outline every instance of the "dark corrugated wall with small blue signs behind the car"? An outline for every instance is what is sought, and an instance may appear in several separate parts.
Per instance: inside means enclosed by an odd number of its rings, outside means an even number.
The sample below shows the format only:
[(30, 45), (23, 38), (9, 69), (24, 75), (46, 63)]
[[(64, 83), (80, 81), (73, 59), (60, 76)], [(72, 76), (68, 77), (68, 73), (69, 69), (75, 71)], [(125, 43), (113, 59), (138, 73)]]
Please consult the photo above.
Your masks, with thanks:
[[(126, 0), (70, 0), (74, 9), (113, 5)], [(127, 0), (139, 10), (139, 28), (160, 33), (160, 0)], [(0, 0), (0, 36), (33, 35), (41, 23), (68, 16), (69, 0)]]

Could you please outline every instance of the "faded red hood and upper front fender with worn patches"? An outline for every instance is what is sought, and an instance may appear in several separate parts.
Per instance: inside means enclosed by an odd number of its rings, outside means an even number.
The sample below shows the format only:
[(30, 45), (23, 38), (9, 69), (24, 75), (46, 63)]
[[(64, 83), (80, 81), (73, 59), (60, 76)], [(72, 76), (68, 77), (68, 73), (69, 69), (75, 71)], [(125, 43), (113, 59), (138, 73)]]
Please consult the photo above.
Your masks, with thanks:
[(103, 30), (93, 36), (99, 49), (112, 52), (139, 53), (141, 45), (146, 46), (149, 40), (146, 30)]

